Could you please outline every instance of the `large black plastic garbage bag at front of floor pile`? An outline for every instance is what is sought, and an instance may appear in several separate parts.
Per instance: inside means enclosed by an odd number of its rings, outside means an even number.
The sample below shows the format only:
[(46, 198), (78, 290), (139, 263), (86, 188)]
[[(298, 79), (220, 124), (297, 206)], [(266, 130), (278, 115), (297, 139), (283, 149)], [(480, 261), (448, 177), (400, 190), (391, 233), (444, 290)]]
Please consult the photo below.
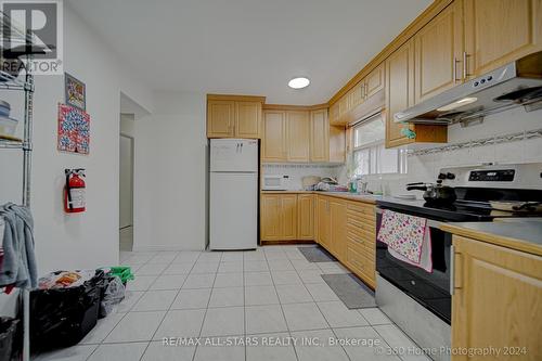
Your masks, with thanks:
[(103, 280), (98, 270), (80, 286), (30, 293), (33, 352), (76, 345), (95, 326)]

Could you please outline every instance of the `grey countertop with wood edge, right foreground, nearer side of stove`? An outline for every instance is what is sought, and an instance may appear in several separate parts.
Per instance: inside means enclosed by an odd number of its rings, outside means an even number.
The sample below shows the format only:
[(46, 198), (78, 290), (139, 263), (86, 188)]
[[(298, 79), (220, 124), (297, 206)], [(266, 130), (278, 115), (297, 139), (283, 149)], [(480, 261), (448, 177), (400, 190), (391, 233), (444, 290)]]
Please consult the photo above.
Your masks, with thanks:
[(443, 223), (440, 229), (465, 237), (542, 256), (542, 218)]

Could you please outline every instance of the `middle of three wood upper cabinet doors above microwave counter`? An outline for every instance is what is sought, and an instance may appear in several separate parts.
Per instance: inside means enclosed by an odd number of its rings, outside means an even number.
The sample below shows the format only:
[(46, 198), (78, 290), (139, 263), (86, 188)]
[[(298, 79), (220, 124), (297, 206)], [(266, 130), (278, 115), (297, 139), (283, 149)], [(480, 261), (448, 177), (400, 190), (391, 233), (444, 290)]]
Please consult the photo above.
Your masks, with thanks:
[(310, 118), (308, 111), (286, 112), (287, 158), (289, 162), (309, 162)]

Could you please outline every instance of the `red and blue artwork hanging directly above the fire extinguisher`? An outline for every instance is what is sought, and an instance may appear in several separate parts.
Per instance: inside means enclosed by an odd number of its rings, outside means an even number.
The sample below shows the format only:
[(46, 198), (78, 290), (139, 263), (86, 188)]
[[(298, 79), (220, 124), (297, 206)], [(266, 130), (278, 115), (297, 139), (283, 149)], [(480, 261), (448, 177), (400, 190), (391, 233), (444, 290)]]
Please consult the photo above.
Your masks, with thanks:
[(80, 108), (59, 104), (59, 151), (89, 154), (90, 115)]

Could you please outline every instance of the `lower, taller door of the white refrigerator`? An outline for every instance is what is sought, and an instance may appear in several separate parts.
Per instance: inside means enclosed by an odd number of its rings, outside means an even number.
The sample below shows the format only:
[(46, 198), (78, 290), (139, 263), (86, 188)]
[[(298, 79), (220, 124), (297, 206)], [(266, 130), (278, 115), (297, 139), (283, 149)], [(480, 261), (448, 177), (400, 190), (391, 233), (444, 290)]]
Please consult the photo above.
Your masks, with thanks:
[(258, 173), (210, 173), (210, 249), (251, 249), (258, 243)]

